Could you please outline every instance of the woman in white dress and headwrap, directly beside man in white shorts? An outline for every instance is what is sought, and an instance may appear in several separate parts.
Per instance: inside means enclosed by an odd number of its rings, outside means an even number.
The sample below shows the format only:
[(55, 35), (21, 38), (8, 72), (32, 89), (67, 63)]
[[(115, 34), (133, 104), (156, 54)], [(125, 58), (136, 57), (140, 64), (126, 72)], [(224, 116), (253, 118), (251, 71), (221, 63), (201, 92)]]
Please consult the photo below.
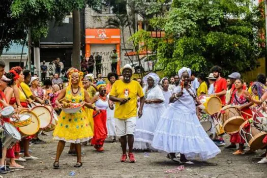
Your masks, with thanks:
[(165, 99), (158, 85), (159, 76), (155, 73), (149, 73), (143, 80), (146, 84), (143, 88), (145, 104), (143, 106), (143, 115), (137, 119), (134, 132), (134, 149), (138, 150), (152, 148), (151, 143), (154, 132), (165, 109)]

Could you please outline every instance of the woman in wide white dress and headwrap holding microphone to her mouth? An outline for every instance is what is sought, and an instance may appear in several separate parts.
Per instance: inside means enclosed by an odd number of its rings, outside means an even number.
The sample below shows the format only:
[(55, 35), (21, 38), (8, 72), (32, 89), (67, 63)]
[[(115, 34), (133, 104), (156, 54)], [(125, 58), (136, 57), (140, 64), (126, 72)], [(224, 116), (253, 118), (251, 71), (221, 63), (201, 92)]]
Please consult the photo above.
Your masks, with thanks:
[(186, 67), (179, 70), (181, 84), (174, 88), (171, 103), (160, 118), (152, 142), (155, 149), (167, 152), (167, 158), (173, 161), (176, 161), (175, 153), (180, 153), (177, 162), (185, 164), (193, 164), (187, 159), (206, 160), (221, 152), (200, 125), (195, 90), (188, 84), (190, 75), (191, 70)]

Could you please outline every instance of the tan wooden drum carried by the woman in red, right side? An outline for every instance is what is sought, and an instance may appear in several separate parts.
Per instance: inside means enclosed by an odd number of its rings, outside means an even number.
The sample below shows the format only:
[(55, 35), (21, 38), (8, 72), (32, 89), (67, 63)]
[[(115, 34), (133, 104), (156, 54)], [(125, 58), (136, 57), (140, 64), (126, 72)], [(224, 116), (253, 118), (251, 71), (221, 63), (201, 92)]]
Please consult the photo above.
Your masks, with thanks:
[(224, 106), (219, 114), (223, 123), (223, 130), (228, 134), (239, 132), (241, 124), (245, 122), (238, 107), (233, 105)]

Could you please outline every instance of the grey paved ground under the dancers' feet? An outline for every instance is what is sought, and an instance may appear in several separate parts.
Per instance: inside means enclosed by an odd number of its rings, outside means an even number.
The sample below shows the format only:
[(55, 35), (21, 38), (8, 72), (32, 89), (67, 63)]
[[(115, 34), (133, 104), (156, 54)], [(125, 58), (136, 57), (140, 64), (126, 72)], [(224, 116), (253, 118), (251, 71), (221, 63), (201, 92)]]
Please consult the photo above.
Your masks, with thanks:
[[(51, 133), (49, 133), (51, 135)], [(76, 157), (68, 156), (69, 144), (60, 160), (60, 169), (53, 169), (57, 142), (51, 136), (41, 136), (46, 144), (31, 146), (33, 156), (40, 159), (22, 163), (26, 168), (3, 177), (267, 177), (267, 164), (259, 165), (259, 151), (252, 155), (233, 156), (232, 151), (222, 149), (222, 153), (207, 162), (195, 161), (195, 165), (185, 165), (185, 169), (176, 173), (167, 173), (180, 165), (168, 160), (163, 153), (135, 153), (136, 163), (121, 163), (120, 143), (105, 143), (105, 152), (97, 153), (92, 146), (83, 146), (85, 155), (82, 157), (83, 166), (75, 168)], [(69, 176), (71, 171), (76, 175)]]

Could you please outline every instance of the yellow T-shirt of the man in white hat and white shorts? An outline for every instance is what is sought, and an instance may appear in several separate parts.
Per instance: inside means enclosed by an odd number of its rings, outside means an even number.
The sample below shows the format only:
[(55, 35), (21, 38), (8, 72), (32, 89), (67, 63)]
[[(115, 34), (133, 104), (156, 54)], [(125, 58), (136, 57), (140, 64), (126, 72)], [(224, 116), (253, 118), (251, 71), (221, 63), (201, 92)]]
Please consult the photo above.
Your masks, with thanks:
[(127, 103), (122, 105), (120, 102), (115, 102), (114, 117), (120, 119), (137, 116), (137, 97), (144, 96), (141, 85), (135, 80), (131, 80), (130, 83), (116, 80), (109, 95), (117, 98), (130, 98)]

